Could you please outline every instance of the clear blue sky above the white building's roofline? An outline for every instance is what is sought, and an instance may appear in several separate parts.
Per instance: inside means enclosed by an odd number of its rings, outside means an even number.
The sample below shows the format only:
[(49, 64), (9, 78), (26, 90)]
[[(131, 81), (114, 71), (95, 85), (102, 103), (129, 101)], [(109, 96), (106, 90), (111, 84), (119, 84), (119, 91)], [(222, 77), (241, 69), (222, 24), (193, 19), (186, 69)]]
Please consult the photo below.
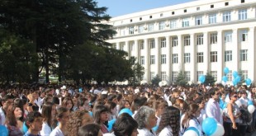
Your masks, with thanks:
[(107, 14), (111, 17), (145, 11), (157, 7), (167, 7), (195, 0), (95, 0), (98, 7), (108, 7)]

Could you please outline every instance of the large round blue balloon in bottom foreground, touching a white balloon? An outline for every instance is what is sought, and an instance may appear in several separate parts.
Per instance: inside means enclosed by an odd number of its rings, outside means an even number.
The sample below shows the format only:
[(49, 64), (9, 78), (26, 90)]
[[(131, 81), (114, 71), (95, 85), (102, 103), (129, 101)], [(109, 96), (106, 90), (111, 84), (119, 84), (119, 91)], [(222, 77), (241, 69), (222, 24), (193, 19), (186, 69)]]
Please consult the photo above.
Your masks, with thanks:
[(202, 121), (201, 128), (206, 135), (214, 134), (217, 129), (217, 121), (214, 118), (206, 118)]

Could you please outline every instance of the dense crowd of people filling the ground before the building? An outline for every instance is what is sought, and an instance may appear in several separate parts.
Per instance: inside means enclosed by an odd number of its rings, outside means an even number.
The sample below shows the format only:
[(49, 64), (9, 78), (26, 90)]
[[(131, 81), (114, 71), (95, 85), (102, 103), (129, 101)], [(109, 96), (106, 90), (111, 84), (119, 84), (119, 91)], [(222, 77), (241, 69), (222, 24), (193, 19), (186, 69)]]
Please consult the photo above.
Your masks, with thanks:
[(209, 117), (225, 136), (256, 129), (256, 112), (247, 110), (256, 106), (256, 88), (245, 85), (36, 86), (0, 92), (0, 129), (9, 136), (183, 136), (190, 127), (203, 136)]

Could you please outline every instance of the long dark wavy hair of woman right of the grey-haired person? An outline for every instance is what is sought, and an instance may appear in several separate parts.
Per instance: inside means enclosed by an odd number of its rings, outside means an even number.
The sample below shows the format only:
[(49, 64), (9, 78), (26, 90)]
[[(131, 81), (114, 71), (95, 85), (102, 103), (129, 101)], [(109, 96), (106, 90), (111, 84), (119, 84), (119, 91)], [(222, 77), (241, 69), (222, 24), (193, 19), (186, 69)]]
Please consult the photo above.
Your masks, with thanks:
[(173, 136), (178, 136), (180, 127), (179, 120), (180, 110), (173, 106), (168, 106), (167, 108), (165, 108), (164, 113), (161, 117), (157, 134), (159, 134), (165, 127), (169, 125), (173, 130)]

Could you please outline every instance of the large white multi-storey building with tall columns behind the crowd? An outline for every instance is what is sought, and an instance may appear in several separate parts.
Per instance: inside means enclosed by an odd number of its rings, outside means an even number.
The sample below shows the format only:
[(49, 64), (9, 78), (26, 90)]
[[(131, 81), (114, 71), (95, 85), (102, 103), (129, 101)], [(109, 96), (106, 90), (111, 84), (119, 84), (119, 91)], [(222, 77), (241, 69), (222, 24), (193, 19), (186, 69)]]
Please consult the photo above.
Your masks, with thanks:
[(135, 12), (107, 22), (117, 34), (108, 42), (145, 67), (144, 80), (156, 74), (172, 83), (179, 71), (197, 83), (211, 73), (217, 82), (241, 70), (256, 79), (255, 0), (194, 1)]

